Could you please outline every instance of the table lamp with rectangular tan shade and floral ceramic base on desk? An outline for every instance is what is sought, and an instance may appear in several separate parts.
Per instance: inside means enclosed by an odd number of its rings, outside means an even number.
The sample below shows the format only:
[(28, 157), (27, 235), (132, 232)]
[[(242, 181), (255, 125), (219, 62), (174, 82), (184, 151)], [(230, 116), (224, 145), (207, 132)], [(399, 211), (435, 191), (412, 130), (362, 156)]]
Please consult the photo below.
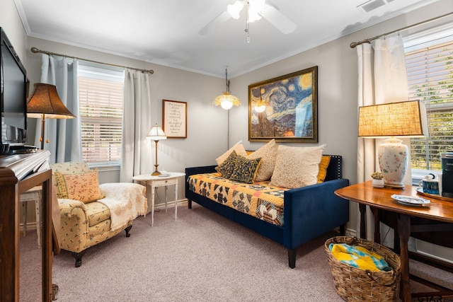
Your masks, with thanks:
[(384, 138), (379, 145), (379, 168), (384, 186), (403, 188), (408, 167), (408, 146), (396, 137), (426, 137), (428, 122), (425, 104), (418, 100), (359, 108), (359, 137)]

